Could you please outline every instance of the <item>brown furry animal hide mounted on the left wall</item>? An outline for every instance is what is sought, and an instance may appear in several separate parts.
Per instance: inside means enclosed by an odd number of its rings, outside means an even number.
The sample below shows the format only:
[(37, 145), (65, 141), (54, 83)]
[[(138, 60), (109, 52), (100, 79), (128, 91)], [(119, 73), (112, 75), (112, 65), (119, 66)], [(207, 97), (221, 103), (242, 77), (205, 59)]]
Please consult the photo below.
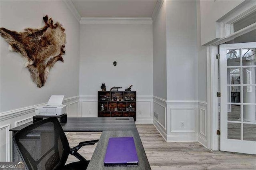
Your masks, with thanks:
[(24, 32), (0, 28), (1, 36), (8, 42), (9, 50), (19, 53), (25, 59), (30, 75), (37, 87), (41, 88), (56, 61), (62, 61), (66, 43), (65, 29), (52, 18), (44, 18), (45, 26), (39, 29), (26, 28)]

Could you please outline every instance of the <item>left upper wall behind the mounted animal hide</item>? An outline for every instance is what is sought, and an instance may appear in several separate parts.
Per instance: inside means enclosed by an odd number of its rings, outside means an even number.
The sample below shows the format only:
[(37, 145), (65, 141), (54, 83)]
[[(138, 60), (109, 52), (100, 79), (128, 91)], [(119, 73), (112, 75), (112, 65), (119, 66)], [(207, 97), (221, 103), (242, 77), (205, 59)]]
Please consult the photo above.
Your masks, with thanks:
[(8, 43), (1, 37), (1, 108), (0, 112), (19, 109), (48, 101), (51, 95), (65, 97), (79, 94), (79, 30), (80, 24), (63, 1), (1, 1), (1, 27), (22, 31), (40, 28), (43, 16), (48, 14), (54, 22), (66, 29), (66, 55), (64, 63), (56, 62), (42, 88), (36, 87), (24, 60), (8, 51)]

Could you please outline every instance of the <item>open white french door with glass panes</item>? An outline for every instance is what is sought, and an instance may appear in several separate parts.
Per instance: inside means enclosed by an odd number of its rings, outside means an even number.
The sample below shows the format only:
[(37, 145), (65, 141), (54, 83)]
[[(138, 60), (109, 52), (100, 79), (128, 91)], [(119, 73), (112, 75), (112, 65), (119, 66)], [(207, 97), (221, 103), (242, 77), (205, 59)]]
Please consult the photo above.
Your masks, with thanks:
[(219, 48), (220, 150), (256, 154), (256, 42)]

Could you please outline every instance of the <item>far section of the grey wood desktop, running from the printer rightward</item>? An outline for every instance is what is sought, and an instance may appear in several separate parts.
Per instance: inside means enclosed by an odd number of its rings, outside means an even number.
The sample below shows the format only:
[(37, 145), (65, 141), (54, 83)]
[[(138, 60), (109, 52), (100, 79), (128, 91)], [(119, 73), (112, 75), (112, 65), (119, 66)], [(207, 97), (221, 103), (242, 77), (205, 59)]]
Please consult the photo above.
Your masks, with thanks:
[[(10, 129), (10, 131), (18, 131), (31, 124), (32, 122), (29, 122), (24, 125), (12, 128)], [(101, 132), (104, 130), (137, 130), (132, 117), (68, 117), (66, 123), (60, 124), (64, 132)]]

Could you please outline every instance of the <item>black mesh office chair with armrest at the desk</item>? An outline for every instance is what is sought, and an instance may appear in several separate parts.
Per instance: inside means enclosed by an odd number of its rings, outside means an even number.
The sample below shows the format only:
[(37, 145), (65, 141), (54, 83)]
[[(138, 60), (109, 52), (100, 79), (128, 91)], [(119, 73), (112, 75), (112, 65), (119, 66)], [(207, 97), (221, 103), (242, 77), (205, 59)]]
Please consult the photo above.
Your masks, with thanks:
[[(68, 139), (57, 118), (48, 118), (29, 125), (13, 135), (13, 142), (28, 170), (82, 170), (89, 160), (77, 151), (85, 145), (94, 145), (99, 140), (80, 142), (70, 148)], [(68, 154), (80, 161), (67, 164)]]

